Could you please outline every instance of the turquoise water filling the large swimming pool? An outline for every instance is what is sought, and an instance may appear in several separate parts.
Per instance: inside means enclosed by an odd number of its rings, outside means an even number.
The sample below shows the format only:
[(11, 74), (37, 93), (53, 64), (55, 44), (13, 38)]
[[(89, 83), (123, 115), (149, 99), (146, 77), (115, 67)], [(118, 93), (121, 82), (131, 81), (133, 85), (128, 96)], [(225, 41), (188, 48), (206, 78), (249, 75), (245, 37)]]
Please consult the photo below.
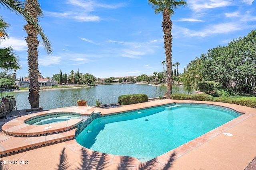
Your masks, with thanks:
[(154, 107), (95, 119), (76, 141), (88, 149), (146, 162), (239, 115), (208, 105)]

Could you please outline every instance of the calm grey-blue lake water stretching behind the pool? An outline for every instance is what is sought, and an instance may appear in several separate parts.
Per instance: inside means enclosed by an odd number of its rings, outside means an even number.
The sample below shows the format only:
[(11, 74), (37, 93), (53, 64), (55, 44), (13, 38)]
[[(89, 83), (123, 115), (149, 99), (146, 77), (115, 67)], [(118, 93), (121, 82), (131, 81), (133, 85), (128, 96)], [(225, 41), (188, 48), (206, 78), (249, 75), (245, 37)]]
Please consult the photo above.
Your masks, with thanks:
[[(146, 94), (148, 98), (155, 98), (164, 96), (166, 90), (166, 86), (150, 86), (147, 84), (108, 84), (90, 88), (42, 90), (39, 92), (39, 106), (43, 109), (77, 106), (76, 101), (80, 99), (85, 99), (88, 106), (96, 106), (97, 99), (102, 104), (111, 104), (117, 103), (118, 97), (124, 94)], [(173, 86), (172, 93), (188, 94), (183, 86)], [(14, 95), (17, 109), (20, 110), (31, 108), (28, 94), (29, 92), (12, 92), (8, 93), (8, 96)]]

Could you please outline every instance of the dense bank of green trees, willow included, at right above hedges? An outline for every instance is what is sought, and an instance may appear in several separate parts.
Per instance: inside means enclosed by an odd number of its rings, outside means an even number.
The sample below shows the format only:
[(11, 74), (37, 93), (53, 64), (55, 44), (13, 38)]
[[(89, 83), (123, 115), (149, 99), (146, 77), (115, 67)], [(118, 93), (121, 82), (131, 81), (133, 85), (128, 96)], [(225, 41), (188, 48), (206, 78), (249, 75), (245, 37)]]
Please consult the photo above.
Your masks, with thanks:
[(256, 93), (256, 30), (239, 37), (227, 46), (208, 50), (191, 61), (183, 81), (189, 92), (198, 89), (200, 82), (218, 82), (219, 89), (235, 93)]

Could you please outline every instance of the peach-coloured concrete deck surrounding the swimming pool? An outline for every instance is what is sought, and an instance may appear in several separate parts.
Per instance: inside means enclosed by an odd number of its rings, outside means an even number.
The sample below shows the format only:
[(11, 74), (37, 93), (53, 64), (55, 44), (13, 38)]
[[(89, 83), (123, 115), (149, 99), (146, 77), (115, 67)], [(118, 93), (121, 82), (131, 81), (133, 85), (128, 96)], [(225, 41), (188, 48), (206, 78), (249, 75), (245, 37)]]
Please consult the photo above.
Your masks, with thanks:
[[(187, 100), (156, 100), (141, 104), (117, 107), (94, 108), (104, 114), (117, 113), (144, 107), (159, 106), (170, 103), (201, 103), (224, 106), (244, 113), (243, 115), (217, 127), (216, 129), (173, 149), (146, 163), (136, 158), (104, 154), (80, 146), (75, 139), (62, 143), (39, 147), (37, 149), (19, 152), (10, 156), (2, 156), (0, 162), (4, 168), (13, 170), (30, 169), (178, 169), (178, 170), (243, 170), (256, 156), (256, 109), (234, 104), (187, 101)], [(87, 107), (83, 106), (84, 109)], [(56, 110), (56, 109), (52, 109)], [(82, 107), (65, 107), (58, 110), (83, 110)], [(73, 129), (69, 135), (55, 134), (61, 139), (68, 139), (74, 135)], [(233, 136), (224, 135), (223, 132)], [(17, 148), (22, 145), (34, 145), (47, 139), (54, 139), (50, 135), (41, 137), (11, 137), (0, 133), (0, 153), (6, 148)], [(51, 138), (51, 139), (50, 139)], [(8, 146), (6, 146), (8, 145)], [(173, 152), (176, 155), (172, 155)], [(60, 163), (62, 162), (62, 163)], [(59, 166), (60, 165), (60, 166)], [(172, 166), (171, 166), (172, 165)], [(171, 166), (171, 168), (170, 168)], [(248, 167), (249, 169), (250, 167)], [(254, 168), (254, 169), (253, 169)], [(252, 166), (251, 170), (256, 167)]]

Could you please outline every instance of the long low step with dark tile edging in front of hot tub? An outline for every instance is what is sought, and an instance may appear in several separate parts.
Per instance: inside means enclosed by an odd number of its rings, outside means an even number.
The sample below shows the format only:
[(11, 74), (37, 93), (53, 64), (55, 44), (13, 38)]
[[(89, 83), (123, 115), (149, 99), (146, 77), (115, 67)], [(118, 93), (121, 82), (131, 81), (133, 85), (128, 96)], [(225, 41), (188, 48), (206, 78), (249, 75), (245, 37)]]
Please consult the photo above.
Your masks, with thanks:
[(0, 133), (1, 139), (6, 139), (0, 141), (0, 157), (72, 140), (75, 137), (75, 131), (76, 128), (70, 131), (40, 137), (10, 137), (4, 133)]

